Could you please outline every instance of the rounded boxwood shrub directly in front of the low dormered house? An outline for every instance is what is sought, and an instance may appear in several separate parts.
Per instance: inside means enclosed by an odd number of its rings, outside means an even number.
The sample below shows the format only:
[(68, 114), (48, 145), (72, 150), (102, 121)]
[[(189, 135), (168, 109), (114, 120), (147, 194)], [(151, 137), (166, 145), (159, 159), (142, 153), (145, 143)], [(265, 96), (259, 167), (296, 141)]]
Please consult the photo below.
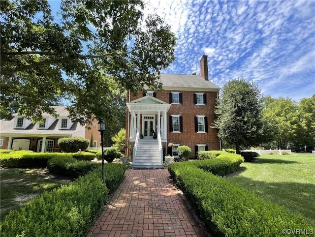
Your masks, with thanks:
[(61, 138), (58, 140), (58, 146), (64, 152), (78, 152), (86, 150), (90, 141), (81, 137)]

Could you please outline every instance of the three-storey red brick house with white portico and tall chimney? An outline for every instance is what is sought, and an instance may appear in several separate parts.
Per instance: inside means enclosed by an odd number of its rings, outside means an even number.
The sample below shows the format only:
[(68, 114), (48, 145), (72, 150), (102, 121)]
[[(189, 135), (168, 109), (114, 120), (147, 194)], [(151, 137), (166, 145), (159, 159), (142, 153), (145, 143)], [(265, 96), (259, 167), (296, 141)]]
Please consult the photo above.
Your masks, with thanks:
[[(127, 93), (126, 153), (134, 167), (161, 167), (164, 155), (178, 156), (178, 146), (219, 150), (215, 105), (220, 88), (208, 80), (207, 56), (200, 60), (201, 75), (160, 74), (163, 90)], [(155, 133), (157, 138), (154, 139)], [(174, 144), (168, 147), (168, 144)]]

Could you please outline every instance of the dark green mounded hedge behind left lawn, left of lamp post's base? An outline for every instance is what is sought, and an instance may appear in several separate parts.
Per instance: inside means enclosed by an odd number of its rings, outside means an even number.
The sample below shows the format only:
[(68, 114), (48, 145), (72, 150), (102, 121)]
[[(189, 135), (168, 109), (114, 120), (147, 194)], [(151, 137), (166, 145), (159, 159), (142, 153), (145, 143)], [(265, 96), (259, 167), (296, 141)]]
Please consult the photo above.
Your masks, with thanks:
[[(66, 153), (65, 153), (66, 154)], [(54, 157), (48, 161), (48, 170), (57, 175), (64, 175), (71, 178), (85, 176), (99, 167), (99, 163), (86, 160), (77, 160), (74, 157)]]

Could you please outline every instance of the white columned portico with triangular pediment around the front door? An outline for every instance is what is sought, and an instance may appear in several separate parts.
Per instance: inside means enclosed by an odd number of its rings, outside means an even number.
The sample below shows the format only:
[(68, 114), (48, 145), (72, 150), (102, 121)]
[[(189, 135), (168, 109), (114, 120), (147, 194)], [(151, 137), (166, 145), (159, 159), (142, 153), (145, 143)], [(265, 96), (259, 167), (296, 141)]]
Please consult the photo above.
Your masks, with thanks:
[[(167, 140), (167, 111), (170, 104), (151, 95), (127, 103), (130, 114), (129, 141), (136, 139), (137, 131), (144, 139), (152, 139), (154, 132), (160, 133), (162, 142)], [(141, 123), (140, 123), (141, 122)]]

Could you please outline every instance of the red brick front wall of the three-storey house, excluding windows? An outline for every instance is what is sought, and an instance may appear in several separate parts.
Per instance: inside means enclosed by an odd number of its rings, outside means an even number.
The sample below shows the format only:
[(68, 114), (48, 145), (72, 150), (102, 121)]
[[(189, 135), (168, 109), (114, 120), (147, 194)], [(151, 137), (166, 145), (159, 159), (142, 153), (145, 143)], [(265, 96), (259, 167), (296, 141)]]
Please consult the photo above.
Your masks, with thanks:
[[(188, 91), (188, 90), (162, 90), (156, 93), (156, 98), (162, 100), (166, 103), (169, 103), (169, 94), (171, 92), (182, 93), (182, 104), (172, 104), (168, 113), (167, 113), (167, 144), (179, 144), (181, 146), (185, 145), (191, 148), (191, 157), (195, 156), (195, 146), (205, 145), (209, 150), (220, 150), (220, 141), (217, 136), (217, 130), (211, 128), (212, 123), (215, 119), (215, 104), (218, 96), (217, 91)], [(197, 105), (194, 103), (194, 94), (195, 93), (204, 93), (206, 96), (205, 105)], [(127, 102), (133, 101), (135, 99), (143, 97), (142, 92), (138, 93), (138, 96), (127, 94)], [(128, 108), (126, 109), (126, 141), (128, 141)], [(170, 116), (179, 115), (182, 117), (182, 132), (172, 132), (170, 131)], [(156, 115), (157, 116), (157, 115)], [(195, 117), (196, 116), (205, 116), (208, 123), (208, 132), (198, 133), (195, 132)], [(140, 117), (141, 118), (141, 117)], [(156, 119), (157, 120), (157, 119)], [(140, 122), (140, 126), (141, 126)], [(141, 129), (140, 129), (141, 130)], [(129, 143), (129, 155), (130, 148), (132, 149), (134, 143)]]

